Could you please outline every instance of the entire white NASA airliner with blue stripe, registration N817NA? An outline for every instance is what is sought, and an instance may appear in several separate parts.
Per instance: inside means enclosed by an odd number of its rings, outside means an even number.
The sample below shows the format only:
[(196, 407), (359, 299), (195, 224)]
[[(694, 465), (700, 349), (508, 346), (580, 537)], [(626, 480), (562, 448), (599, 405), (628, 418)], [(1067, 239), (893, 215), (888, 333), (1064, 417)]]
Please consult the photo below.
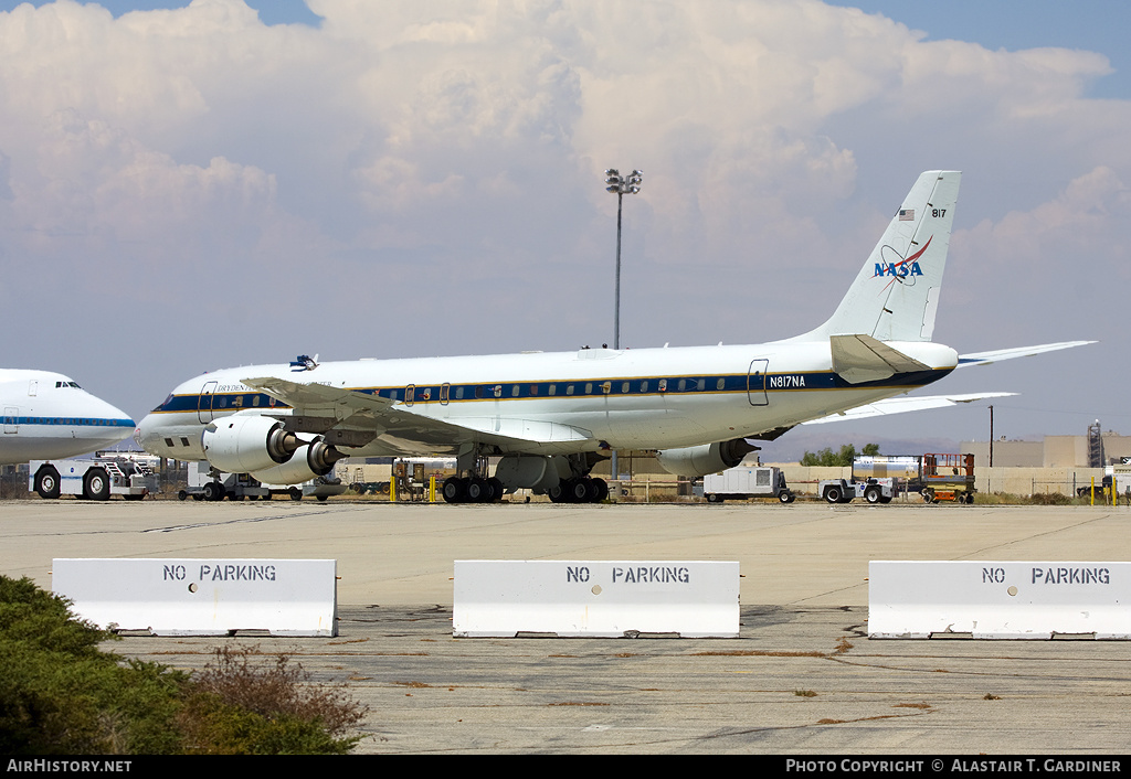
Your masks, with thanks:
[[(672, 473), (736, 465), (812, 421), (969, 401), (896, 398), (964, 365), (1090, 341), (959, 356), (931, 343), (960, 174), (922, 174), (832, 317), (748, 346), (589, 349), (426, 360), (257, 365), (207, 373), (141, 421), (150, 453), (294, 484), (342, 457), (448, 453), (449, 502), (527, 487), (603, 499), (589, 476), (613, 449), (655, 449)], [(853, 410), (857, 409), (857, 410)], [(500, 457), (493, 477), (486, 457)]]

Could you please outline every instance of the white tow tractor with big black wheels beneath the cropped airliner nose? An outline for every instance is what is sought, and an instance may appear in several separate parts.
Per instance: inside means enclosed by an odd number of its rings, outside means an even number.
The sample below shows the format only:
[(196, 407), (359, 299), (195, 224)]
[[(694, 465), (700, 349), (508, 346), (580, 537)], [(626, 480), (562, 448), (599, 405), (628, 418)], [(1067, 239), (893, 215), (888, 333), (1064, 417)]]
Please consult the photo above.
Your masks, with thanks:
[(76, 495), (105, 501), (111, 495), (121, 495), (128, 501), (140, 501), (158, 488), (153, 468), (126, 455), (87, 460), (33, 460), (27, 474), (28, 491), (34, 490), (44, 500)]

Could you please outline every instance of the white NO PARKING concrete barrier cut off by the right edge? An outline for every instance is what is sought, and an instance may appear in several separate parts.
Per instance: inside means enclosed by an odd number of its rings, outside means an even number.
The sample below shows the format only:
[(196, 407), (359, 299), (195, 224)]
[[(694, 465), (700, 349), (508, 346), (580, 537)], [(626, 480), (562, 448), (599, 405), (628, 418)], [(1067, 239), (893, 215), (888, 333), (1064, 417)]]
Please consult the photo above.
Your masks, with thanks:
[(872, 561), (871, 639), (1131, 639), (1131, 563)]

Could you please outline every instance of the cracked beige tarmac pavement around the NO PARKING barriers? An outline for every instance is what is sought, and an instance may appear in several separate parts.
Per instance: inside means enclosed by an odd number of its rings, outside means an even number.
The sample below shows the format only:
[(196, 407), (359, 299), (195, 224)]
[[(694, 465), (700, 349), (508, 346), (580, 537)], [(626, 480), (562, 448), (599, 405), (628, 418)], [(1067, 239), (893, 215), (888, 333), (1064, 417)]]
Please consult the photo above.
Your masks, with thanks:
[[(138, 638), (197, 668), (285, 651), (370, 707), (362, 753), (1122, 754), (1122, 641), (869, 640), (870, 560), (1126, 561), (1126, 508), (892, 503), (0, 503), (0, 572), (53, 557), (338, 561), (339, 634)], [(454, 639), (454, 560), (737, 560), (736, 639)]]

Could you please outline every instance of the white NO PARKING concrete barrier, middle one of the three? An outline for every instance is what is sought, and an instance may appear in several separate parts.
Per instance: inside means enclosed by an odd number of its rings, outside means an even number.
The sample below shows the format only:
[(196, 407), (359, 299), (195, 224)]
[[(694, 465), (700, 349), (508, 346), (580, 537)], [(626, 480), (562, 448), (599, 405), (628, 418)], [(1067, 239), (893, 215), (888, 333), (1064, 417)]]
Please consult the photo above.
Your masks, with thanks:
[(457, 560), (452, 634), (739, 634), (739, 563)]

